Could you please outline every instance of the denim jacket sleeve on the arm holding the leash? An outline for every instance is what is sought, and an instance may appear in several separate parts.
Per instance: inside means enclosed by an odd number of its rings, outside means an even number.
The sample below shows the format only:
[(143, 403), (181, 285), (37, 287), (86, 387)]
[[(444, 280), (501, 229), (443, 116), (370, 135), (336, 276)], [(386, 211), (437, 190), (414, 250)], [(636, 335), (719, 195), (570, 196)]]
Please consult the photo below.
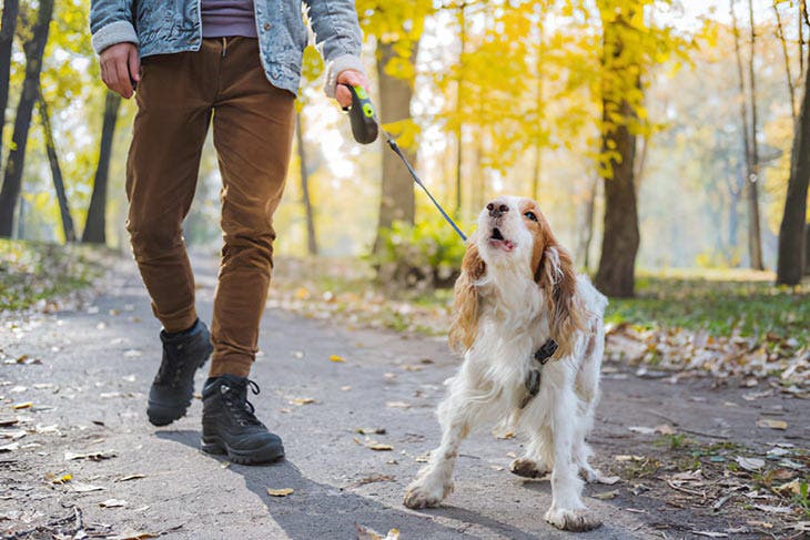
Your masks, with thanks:
[(345, 70), (363, 72), (360, 59), (363, 33), (357, 23), (353, 0), (304, 0), (310, 21), (326, 61), (324, 91), (334, 98), (337, 75)]

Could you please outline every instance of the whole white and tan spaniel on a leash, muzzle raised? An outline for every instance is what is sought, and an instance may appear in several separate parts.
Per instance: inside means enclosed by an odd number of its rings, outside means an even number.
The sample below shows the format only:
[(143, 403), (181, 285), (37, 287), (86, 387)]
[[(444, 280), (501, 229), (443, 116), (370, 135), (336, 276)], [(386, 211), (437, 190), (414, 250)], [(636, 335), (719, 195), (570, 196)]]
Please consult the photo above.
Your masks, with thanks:
[(442, 442), (408, 486), (405, 506), (439, 505), (453, 491), (462, 440), (477, 426), (503, 421), (528, 437), (512, 472), (551, 472), (546, 521), (570, 531), (599, 527), (583, 503), (579, 475), (600, 478), (588, 465), (585, 437), (599, 396), (606, 306), (576, 274), (535, 201), (504, 196), (487, 204), (455, 284), (449, 344), (464, 363), (445, 381)]

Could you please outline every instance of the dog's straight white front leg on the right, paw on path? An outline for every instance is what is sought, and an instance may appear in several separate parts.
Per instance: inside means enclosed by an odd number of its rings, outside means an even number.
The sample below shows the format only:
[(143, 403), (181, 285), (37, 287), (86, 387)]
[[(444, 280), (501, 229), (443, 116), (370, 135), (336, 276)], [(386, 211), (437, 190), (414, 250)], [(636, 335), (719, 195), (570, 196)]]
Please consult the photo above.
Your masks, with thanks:
[(601, 524), (583, 503), (583, 480), (574, 461), (576, 398), (574, 393), (557, 390), (551, 396), (551, 438), (554, 469), (551, 470), (551, 508), (546, 521), (567, 531), (589, 531)]

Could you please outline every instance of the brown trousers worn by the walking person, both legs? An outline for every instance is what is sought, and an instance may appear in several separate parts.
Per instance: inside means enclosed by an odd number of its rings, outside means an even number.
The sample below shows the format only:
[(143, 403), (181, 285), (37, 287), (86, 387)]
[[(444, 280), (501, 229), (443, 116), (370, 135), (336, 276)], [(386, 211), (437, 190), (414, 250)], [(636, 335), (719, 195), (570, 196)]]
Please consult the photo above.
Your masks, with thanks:
[(189, 328), (198, 317), (182, 222), (213, 116), (223, 247), (211, 323), (212, 377), (246, 377), (255, 357), (294, 101), (267, 81), (255, 39), (205, 39), (198, 52), (142, 61), (126, 163), (126, 230), (152, 310), (168, 333)]

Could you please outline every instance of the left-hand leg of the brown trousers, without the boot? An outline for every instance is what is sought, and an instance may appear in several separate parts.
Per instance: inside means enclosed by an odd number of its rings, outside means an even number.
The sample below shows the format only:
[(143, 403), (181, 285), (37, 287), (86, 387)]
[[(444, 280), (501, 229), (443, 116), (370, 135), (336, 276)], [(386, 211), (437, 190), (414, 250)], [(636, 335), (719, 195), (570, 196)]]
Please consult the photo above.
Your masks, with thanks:
[[(145, 58), (126, 162), (126, 230), (152, 310), (166, 333), (196, 320), (182, 236), (211, 120), (216, 72), (204, 49)], [(212, 64), (213, 67), (213, 64)]]

